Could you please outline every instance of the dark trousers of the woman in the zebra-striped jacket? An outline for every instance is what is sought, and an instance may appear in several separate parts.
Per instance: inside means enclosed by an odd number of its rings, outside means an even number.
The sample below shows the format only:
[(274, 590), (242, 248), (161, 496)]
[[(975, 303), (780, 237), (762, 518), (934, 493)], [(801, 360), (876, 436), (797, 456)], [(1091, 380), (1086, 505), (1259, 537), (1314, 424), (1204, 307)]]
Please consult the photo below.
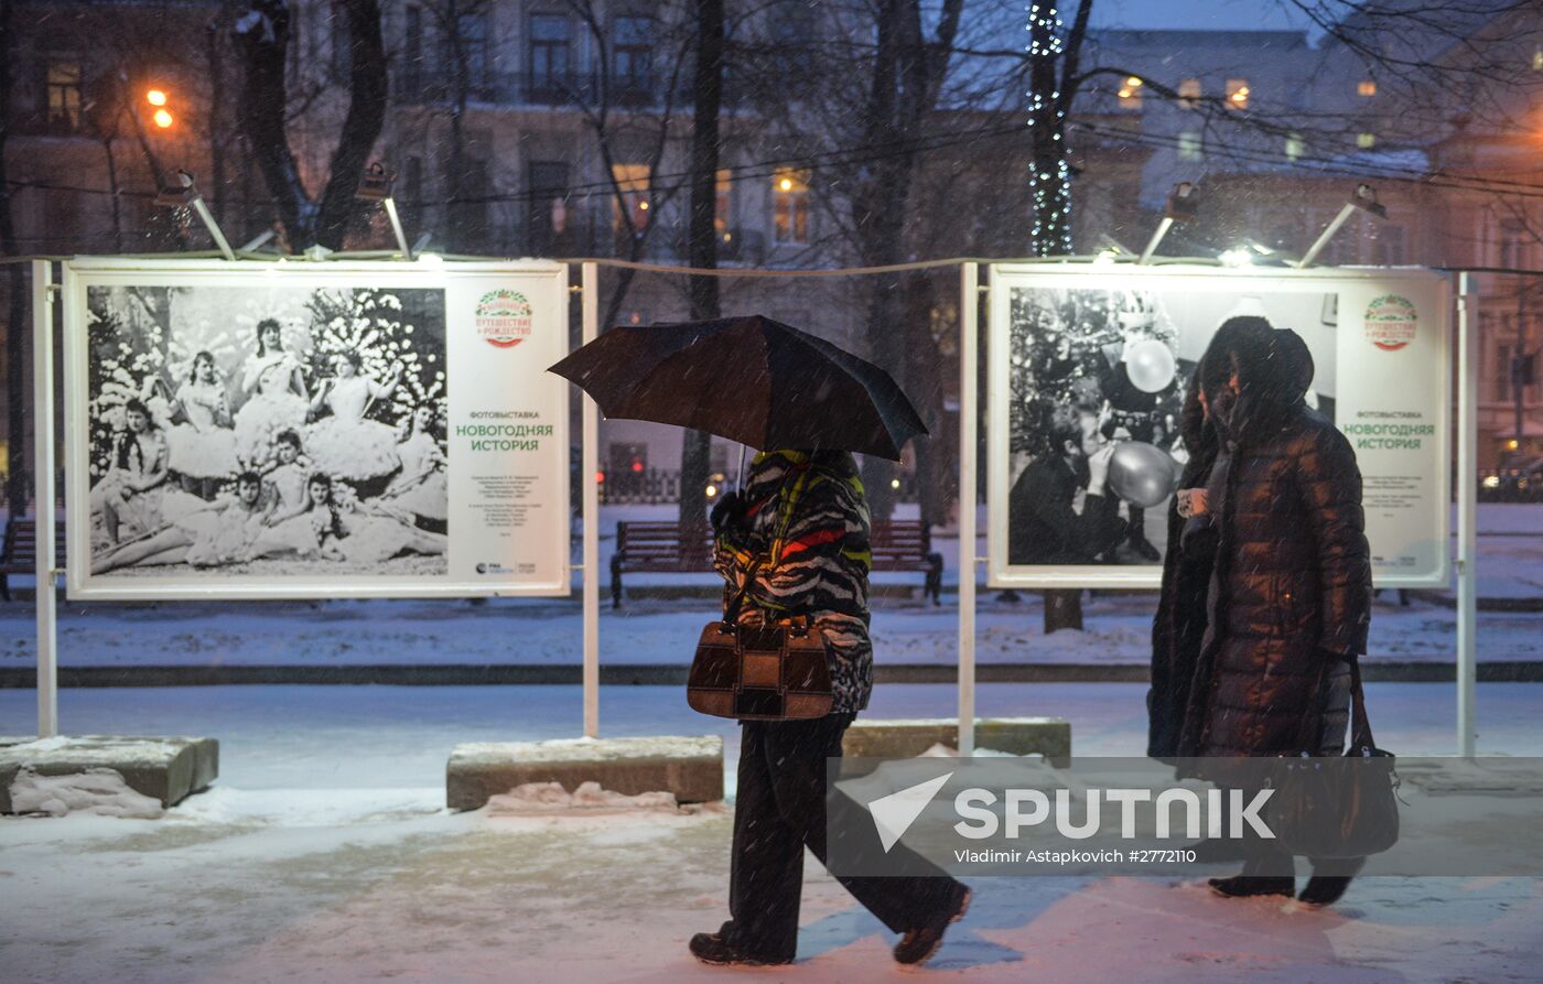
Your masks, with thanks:
[[(790, 961), (798, 950), (804, 848), (826, 864), (826, 759), (841, 757), (852, 714), (742, 725), (734, 847), (728, 882), (733, 919), (721, 930), (742, 953)], [(896, 845), (893, 851), (903, 851)], [(838, 878), (890, 930), (920, 927), (958, 905), (964, 887), (934, 878)]]

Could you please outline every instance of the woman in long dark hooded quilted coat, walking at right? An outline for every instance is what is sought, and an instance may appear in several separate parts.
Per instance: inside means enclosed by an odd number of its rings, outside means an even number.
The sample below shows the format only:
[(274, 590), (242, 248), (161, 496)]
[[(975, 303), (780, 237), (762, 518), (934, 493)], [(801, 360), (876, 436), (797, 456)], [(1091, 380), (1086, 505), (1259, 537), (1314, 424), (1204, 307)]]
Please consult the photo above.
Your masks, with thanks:
[[(1366, 652), (1372, 606), (1355, 452), (1304, 403), (1313, 361), (1295, 332), (1247, 319), (1213, 342), (1202, 364), (1216, 455), (1204, 514), (1187, 520), (1180, 537), (1210, 555), (1211, 569), (1188, 686), (1173, 685), (1187, 655), (1174, 645), (1160, 699), (1154, 688), (1154, 716), (1183, 708), (1177, 726), (1154, 723), (1154, 746), (1180, 757), (1341, 754), (1350, 660)], [(1168, 637), (1188, 645), (1197, 598), (1183, 563), (1174, 574), (1182, 591), (1165, 602), (1179, 629)], [(1244, 873), (1211, 885), (1227, 896), (1291, 895), (1290, 871), (1290, 858), (1254, 842)], [(1349, 881), (1315, 876), (1298, 898), (1327, 904)]]

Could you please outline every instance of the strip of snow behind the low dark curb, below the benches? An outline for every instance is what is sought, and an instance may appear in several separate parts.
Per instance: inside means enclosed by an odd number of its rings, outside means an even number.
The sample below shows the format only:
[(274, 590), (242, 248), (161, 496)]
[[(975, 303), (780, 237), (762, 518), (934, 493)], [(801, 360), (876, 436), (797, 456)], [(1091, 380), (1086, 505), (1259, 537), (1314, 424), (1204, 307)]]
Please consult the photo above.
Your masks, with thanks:
[[(1086, 629), (1043, 634), (1037, 594), (1018, 603), (997, 592), (977, 606), (981, 663), (1145, 665), (1151, 659), (1151, 594), (1103, 595), (1085, 605)], [(688, 663), (713, 617), (708, 598), (636, 598), (600, 614), (602, 663)], [(1372, 660), (1454, 659), (1454, 609), (1384, 594), (1372, 617)], [(954, 665), (958, 606), (875, 598), (880, 663)], [(341, 663), (579, 663), (577, 602), (333, 600), (62, 605), (59, 659), (65, 666), (216, 666)], [(1543, 659), (1543, 612), (1480, 612), (1480, 660)], [(0, 666), (31, 666), (31, 605), (0, 605)]]

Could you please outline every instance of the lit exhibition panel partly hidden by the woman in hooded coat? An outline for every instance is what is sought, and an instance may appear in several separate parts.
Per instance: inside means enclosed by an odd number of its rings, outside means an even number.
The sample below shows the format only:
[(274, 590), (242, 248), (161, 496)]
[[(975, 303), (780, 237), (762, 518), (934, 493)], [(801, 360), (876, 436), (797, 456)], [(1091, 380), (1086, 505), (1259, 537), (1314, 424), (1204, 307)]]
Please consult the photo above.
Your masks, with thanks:
[(1376, 585), (1446, 585), (1450, 304), (1427, 270), (992, 267), (989, 585), (1159, 586), (1185, 386), (1245, 315), (1312, 353), (1305, 399), (1355, 449)]

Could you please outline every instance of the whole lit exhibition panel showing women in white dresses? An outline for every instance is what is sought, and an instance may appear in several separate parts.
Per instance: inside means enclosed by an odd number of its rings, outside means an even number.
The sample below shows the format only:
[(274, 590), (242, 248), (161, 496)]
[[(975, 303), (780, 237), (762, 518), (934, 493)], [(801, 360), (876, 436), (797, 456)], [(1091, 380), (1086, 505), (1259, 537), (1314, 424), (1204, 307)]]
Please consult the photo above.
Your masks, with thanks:
[(566, 595), (568, 271), (63, 265), (73, 598)]

